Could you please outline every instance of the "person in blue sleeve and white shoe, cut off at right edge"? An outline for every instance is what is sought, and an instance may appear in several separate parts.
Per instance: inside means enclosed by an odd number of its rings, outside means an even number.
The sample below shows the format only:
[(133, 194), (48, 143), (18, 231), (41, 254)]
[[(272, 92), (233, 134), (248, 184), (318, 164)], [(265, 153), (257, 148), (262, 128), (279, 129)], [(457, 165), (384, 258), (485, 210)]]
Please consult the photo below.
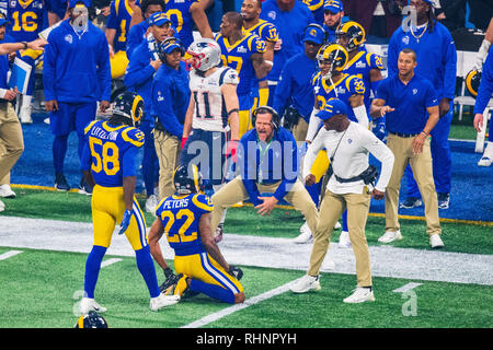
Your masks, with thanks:
[[(493, 21), (493, 20), (492, 20)], [(483, 72), (481, 74), (481, 82), (478, 90), (478, 96), (474, 103), (474, 128), (480, 132), (480, 128), (484, 122), (484, 109), (490, 102), (491, 94), (493, 93), (493, 50), (490, 49), (486, 60), (483, 65)], [(488, 116), (486, 116), (488, 118)], [(490, 121), (490, 132), (488, 136), (488, 144), (484, 150), (483, 156), (479, 161), (480, 166), (490, 166), (493, 162), (493, 120)]]

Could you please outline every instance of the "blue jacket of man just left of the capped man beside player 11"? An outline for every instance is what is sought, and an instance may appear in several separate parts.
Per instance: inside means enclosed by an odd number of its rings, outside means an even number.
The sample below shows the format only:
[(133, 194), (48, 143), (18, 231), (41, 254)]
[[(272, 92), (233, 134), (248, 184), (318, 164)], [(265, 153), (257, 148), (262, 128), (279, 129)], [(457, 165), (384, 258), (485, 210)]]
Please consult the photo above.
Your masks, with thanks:
[(144, 117), (146, 120), (152, 119), (152, 78), (156, 69), (150, 65), (152, 54), (149, 50), (148, 42), (145, 39), (134, 50), (125, 72), (124, 83), (129, 91), (138, 93), (144, 100)]

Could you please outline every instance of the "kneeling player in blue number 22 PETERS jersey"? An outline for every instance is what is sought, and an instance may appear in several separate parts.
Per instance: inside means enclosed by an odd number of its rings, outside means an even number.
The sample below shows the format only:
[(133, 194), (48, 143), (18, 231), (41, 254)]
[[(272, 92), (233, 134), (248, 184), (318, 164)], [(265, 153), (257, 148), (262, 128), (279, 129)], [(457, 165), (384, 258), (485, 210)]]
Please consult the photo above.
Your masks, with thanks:
[(149, 231), (154, 260), (164, 262), (159, 240), (167, 235), (174, 249), (174, 268), (180, 280), (165, 291), (169, 305), (187, 291), (204, 293), (218, 301), (236, 304), (244, 301), (240, 279), (243, 271), (228, 264), (214, 242), (210, 212), (214, 206), (202, 191), (198, 168), (179, 166), (173, 174), (176, 192), (160, 201), (157, 219)]

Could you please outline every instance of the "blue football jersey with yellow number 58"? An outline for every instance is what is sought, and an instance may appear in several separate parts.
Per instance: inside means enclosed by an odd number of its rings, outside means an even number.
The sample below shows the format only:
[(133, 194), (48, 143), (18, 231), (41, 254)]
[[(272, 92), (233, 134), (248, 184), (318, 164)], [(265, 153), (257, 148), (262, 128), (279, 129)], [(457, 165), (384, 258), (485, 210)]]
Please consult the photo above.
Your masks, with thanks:
[(121, 187), (123, 178), (137, 173), (136, 159), (145, 135), (137, 128), (107, 120), (93, 120), (84, 129), (91, 152), (94, 182), (104, 187)]

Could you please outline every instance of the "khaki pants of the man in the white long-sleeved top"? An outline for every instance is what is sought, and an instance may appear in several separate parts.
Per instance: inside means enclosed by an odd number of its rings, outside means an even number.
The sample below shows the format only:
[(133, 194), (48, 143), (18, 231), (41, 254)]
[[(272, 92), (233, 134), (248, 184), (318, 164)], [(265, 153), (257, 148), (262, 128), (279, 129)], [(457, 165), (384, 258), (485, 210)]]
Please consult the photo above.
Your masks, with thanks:
[(371, 285), (371, 268), (369, 259), (368, 243), (365, 236), (366, 220), (370, 206), (370, 194), (345, 194), (336, 195), (325, 191), (320, 205), (319, 224), (313, 235), (313, 247), (310, 256), (309, 276), (318, 276), (323, 259), (325, 258), (331, 242), (334, 225), (347, 209), (347, 226), (349, 231), (351, 245), (356, 258), (356, 278), (358, 287)]

